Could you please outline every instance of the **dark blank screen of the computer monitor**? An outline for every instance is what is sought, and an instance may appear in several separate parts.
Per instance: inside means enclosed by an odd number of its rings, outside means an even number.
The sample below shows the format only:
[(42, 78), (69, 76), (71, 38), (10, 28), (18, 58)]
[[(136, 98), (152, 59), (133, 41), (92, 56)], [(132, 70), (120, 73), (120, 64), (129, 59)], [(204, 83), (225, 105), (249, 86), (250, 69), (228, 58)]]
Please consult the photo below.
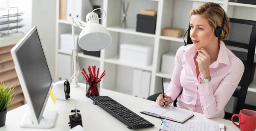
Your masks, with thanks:
[(38, 119), (52, 84), (52, 77), (37, 30), (32, 32), (31, 36), (17, 50), (16, 55)]

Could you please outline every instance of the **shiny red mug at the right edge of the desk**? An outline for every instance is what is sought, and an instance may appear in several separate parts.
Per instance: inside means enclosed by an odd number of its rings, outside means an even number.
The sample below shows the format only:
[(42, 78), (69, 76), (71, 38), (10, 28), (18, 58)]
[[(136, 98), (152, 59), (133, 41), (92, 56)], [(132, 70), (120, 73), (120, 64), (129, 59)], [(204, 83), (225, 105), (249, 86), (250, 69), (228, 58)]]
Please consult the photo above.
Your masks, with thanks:
[[(234, 123), (233, 118), (239, 117), (239, 125)], [(231, 118), (240, 131), (255, 131), (256, 130), (256, 111), (243, 109), (239, 114), (233, 114)]]

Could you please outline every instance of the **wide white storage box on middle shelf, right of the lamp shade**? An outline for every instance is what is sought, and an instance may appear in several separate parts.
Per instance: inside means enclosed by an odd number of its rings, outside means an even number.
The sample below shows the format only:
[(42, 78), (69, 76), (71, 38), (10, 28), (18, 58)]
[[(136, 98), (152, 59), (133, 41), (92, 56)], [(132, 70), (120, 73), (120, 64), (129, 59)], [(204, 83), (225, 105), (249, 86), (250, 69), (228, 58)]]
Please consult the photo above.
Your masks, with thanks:
[(146, 66), (152, 64), (153, 47), (143, 44), (124, 43), (120, 45), (120, 62)]

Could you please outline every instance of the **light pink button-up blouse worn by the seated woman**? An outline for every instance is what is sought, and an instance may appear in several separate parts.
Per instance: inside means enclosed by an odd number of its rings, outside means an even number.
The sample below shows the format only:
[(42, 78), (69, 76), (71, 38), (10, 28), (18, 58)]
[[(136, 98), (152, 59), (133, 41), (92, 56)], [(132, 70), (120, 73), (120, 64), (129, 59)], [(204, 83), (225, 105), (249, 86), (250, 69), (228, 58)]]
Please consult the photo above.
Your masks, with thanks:
[(175, 56), (175, 67), (166, 95), (175, 100), (177, 107), (204, 113), (207, 118), (224, 117), (224, 107), (244, 73), (244, 64), (220, 41), (218, 58), (210, 65), (212, 80), (200, 84), (196, 73), (194, 45), (182, 46)]

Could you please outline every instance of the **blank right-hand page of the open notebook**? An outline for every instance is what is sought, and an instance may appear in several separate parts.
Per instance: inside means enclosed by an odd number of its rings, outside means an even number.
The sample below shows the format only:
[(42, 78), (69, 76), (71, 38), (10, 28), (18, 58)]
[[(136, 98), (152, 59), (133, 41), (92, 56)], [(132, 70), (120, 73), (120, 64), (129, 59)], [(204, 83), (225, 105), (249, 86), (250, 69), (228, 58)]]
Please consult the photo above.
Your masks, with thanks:
[(185, 111), (183, 109), (174, 108), (162, 115), (162, 117), (169, 117), (174, 120), (183, 121), (189, 116), (193, 115), (190, 111)]

